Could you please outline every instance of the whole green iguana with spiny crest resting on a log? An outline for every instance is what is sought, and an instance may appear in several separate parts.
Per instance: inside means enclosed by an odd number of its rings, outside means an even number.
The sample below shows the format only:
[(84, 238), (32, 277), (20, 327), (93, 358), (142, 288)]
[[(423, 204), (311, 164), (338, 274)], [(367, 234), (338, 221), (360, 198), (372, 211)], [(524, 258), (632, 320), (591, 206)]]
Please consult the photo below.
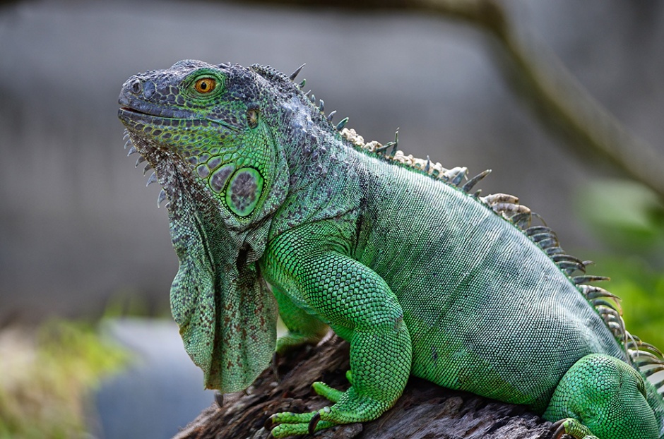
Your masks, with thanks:
[(488, 171), (464, 181), (333, 125), (299, 71), (185, 60), (121, 90), (129, 154), (169, 201), (172, 314), (206, 387), (242, 390), (331, 328), (350, 388), (314, 383), (331, 407), (273, 414), (275, 437), (376, 419), (412, 374), (526, 404), (556, 438), (663, 439), (663, 355), (587, 261), (516, 197), (473, 192)]

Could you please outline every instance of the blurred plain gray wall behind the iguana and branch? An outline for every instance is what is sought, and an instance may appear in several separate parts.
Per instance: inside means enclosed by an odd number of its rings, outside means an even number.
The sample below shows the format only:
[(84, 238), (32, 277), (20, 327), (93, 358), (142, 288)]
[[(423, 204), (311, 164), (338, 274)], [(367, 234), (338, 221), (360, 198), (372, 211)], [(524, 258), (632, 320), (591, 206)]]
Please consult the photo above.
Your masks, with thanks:
[[(313, 3), (313, 2), (312, 2)], [(657, 1), (509, 1), (627, 127), (663, 150), (664, 11)], [(0, 6), (0, 323), (100, 313), (122, 294), (167, 303), (177, 270), (158, 185), (125, 157), (117, 94), (179, 59), (307, 63), (326, 109), (365, 139), (478, 173), (540, 212), (566, 247), (594, 246), (570, 196), (595, 170), (506, 88), (487, 40), (408, 14), (194, 1)], [(583, 255), (581, 254), (581, 257)]]

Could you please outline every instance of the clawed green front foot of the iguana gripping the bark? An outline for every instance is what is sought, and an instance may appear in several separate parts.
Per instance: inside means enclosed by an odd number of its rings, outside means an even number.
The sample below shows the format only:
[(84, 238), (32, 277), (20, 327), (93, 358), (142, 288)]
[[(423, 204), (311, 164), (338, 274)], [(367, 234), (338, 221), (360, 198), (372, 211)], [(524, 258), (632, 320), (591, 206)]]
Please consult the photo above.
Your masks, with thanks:
[(325, 383), (316, 382), (312, 385), (319, 395), (330, 399), (335, 404), (309, 413), (282, 412), (273, 414), (266, 421), (266, 428), (272, 428), (275, 438), (290, 435), (313, 434), (325, 428), (343, 424), (364, 422), (376, 419), (389, 409), (389, 404), (369, 397), (361, 397), (350, 389), (342, 392)]

